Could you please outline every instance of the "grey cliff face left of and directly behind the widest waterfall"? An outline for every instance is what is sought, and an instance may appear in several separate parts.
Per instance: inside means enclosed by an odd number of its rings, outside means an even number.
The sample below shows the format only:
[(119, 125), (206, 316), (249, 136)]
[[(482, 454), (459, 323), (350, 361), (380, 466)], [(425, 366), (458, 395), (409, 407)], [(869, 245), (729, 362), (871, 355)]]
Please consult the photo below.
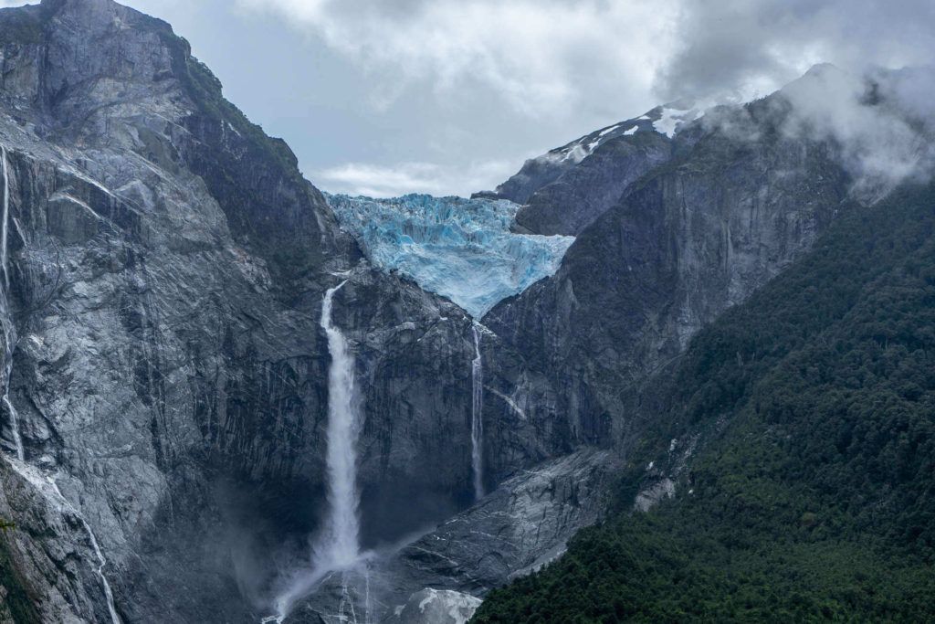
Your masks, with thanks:
[[(0, 40), (15, 327), (0, 514), (19, 527), (0, 585), (45, 620), (108, 621), (93, 532), (126, 621), (265, 610), (323, 514), (319, 320), (345, 278), (334, 317), (364, 380), (365, 545), (465, 508), (465, 313), (369, 268), (288, 147), (164, 22), (45, 0), (0, 11)], [(511, 413), (487, 399), (492, 419)], [(547, 456), (529, 435), (488, 453), (491, 485)], [(49, 479), (61, 500), (36, 486)]]

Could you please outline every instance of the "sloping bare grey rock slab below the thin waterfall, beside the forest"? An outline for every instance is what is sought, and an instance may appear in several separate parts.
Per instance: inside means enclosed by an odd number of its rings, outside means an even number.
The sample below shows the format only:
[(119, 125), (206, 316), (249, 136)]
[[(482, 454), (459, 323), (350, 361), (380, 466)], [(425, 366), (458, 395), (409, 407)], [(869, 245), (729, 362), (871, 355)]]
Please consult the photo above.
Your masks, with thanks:
[(517, 473), (433, 530), (327, 575), (285, 622), (338, 622), (351, 608), (358, 621), (458, 621), (477, 597), (559, 557), (595, 523), (620, 467), (610, 452), (583, 449)]

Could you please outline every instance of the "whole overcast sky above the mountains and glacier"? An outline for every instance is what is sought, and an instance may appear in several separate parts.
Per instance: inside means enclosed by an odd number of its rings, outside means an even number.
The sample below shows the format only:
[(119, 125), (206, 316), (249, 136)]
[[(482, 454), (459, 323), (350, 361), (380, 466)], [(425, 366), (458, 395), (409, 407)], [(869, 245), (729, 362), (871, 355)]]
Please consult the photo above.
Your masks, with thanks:
[[(0, 0), (14, 6), (20, 1)], [(324, 190), (466, 195), (686, 95), (930, 64), (932, 0), (125, 0)]]

